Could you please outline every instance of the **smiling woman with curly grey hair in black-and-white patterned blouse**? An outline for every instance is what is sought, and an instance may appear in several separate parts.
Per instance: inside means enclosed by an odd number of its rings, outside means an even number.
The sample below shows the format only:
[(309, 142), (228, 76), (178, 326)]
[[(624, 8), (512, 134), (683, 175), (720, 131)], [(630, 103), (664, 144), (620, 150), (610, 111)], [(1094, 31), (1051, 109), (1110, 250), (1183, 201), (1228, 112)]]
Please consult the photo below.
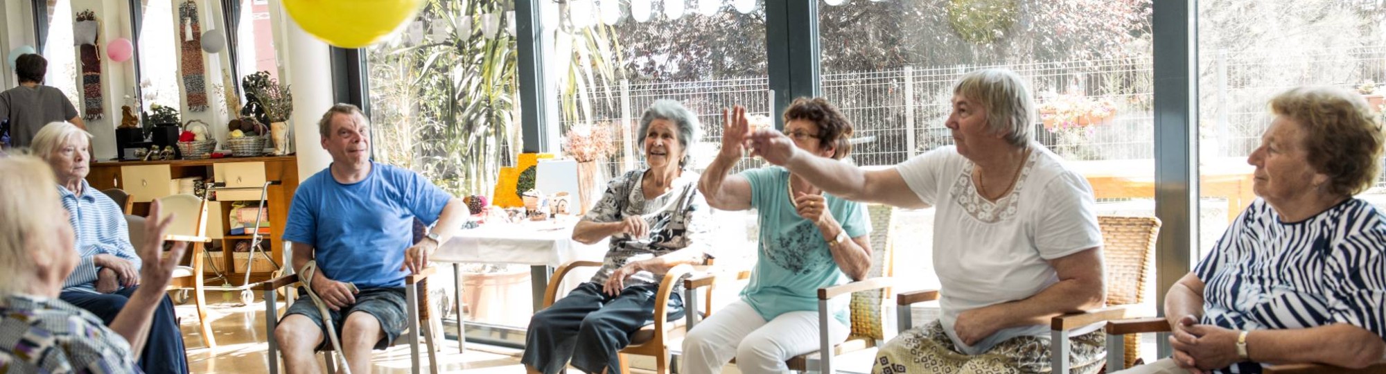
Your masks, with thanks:
[[(586, 373), (621, 373), (617, 352), (629, 334), (654, 323), (656, 292), (664, 273), (703, 263), (710, 247), (710, 209), (699, 175), (687, 170), (699, 121), (678, 101), (658, 100), (640, 118), (638, 141), (646, 166), (607, 184), (606, 194), (572, 229), (572, 240), (610, 240), (590, 281), (529, 320), (521, 362), (529, 373), (554, 374), (570, 362)], [(674, 292), (671, 319), (683, 314)]]

